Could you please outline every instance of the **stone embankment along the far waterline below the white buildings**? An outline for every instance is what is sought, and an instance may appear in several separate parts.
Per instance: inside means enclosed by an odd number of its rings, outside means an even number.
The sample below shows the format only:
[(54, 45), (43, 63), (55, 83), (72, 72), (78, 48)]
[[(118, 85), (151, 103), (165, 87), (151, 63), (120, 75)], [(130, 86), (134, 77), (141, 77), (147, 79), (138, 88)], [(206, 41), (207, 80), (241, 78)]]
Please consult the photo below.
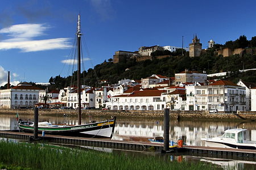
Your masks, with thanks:
[[(32, 115), (33, 109), (0, 109), (0, 114)], [(39, 109), (41, 116), (77, 116), (76, 110), (65, 109)], [(159, 118), (164, 116), (163, 111), (110, 111), (110, 110), (82, 110), (82, 116), (109, 117), (117, 116), (124, 118)], [(207, 111), (170, 111), (170, 117), (176, 119), (232, 119), (232, 120), (256, 120), (256, 112), (238, 113), (208, 113)]]

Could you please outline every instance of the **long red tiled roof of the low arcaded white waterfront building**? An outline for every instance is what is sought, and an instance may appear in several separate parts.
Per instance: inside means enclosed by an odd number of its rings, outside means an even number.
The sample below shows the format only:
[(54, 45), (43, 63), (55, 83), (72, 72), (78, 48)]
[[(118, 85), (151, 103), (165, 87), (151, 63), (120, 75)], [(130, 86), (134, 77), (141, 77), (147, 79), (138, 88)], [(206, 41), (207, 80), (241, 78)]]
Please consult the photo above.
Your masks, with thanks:
[(118, 95), (114, 97), (150, 97), (150, 96), (160, 96), (166, 90), (145, 90), (145, 91), (134, 91), (130, 95)]

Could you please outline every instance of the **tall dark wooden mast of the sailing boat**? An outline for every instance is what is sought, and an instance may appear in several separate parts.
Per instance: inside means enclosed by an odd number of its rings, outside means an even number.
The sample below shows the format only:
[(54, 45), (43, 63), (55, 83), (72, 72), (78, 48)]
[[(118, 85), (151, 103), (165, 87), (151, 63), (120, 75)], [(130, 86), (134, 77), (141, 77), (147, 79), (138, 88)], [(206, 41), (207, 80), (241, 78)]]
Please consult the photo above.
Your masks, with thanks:
[(77, 96), (78, 96), (78, 120), (79, 125), (82, 124), (81, 121), (81, 82), (80, 82), (80, 73), (81, 73), (81, 30), (80, 30), (80, 14), (77, 22)]

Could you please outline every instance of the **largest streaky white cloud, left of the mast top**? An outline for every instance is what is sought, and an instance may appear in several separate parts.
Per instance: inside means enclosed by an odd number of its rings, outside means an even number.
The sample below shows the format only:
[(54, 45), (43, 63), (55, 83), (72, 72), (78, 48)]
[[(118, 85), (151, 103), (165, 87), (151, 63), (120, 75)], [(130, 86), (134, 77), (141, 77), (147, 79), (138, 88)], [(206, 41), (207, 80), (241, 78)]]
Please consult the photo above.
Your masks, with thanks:
[(36, 52), (71, 47), (69, 38), (33, 40), (34, 37), (44, 35), (48, 28), (45, 24), (18, 24), (0, 29), (0, 33), (11, 37), (0, 41), (0, 50), (20, 49), (22, 52)]

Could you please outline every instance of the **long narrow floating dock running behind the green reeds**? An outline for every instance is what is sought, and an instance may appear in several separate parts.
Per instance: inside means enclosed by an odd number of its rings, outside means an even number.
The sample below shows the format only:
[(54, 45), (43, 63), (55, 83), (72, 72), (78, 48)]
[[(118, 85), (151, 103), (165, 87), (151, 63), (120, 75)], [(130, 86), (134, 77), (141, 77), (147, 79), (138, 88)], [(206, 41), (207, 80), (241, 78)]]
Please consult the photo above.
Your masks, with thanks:
[[(0, 131), (0, 138), (11, 138), (21, 140), (31, 140), (33, 134), (20, 133), (15, 131)], [(60, 143), (66, 145), (78, 146), (94, 146), (115, 148), (122, 150), (144, 151), (147, 149), (163, 150), (163, 143), (151, 142), (137, 142), (137, 141), (116, 141), (105, 138), (81, 138), (81, 137), (67, 137), (60, 135), (45, 135), (39, 136), (42, 141), (51, 143)], [(182, 148), (174, 148), (175, 152), (189, 152), (192, 154), (208, 154), (208, 155), (223, 155), (235, 157), (256, 157), (256, 150), (242, 150), (236, 148), (217, 148), (217, 147), (204, 147), (204, 146), (183, 146)]]

